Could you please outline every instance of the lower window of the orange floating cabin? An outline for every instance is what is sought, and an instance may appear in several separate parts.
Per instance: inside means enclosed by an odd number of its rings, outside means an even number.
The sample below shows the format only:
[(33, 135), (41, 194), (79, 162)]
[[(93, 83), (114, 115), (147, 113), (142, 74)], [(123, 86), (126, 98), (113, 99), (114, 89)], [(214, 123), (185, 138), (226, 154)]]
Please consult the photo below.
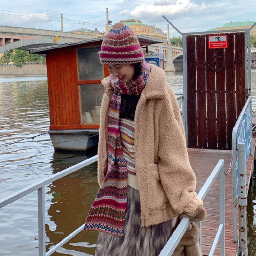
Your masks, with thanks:
[(102, 84), (80, 84), (80, 116), (82, 124), (99, 124), (100, 107), (104, 93)]

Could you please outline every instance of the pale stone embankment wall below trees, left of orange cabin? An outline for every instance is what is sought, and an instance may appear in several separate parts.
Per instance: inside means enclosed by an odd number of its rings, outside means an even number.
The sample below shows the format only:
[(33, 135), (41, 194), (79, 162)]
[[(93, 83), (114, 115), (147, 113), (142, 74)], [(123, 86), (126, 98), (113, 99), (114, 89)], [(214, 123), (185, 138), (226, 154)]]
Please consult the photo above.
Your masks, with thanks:
[(46, 64), (27, 64), (22, 67), (0, 66), (0, 75), (47, 75)]

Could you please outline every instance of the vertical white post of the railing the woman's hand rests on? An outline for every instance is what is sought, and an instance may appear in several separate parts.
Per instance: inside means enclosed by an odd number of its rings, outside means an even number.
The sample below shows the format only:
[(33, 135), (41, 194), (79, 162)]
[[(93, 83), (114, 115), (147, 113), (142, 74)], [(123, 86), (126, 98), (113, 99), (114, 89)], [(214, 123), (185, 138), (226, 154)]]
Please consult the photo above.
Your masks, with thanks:
[(220, 224), (223, 229), (220, 233), (220, 255), (225, 255), (225, 169), (220, 170)]

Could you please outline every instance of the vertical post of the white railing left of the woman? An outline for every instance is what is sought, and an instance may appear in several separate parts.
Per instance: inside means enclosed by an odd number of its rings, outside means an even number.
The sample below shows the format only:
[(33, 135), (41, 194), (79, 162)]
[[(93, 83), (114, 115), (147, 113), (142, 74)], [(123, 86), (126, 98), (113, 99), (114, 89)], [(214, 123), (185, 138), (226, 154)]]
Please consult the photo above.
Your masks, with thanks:
[(45, 186), (37, 189), (38, 197), (38, 255), (45, 256)]

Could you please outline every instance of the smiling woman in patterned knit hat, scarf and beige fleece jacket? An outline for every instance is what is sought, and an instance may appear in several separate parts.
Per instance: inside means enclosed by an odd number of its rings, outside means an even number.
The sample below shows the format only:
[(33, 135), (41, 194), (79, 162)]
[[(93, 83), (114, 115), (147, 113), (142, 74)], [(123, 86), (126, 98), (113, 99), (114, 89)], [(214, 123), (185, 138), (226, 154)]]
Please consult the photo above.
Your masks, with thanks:
[(195, 190), (181, 114), (164, 70), (145, 62), (132, 30), (104, 37), (99, 193), (84, 230), (99, 230), (95, 255), (158, 255), (181, 214), (205, 217)]

